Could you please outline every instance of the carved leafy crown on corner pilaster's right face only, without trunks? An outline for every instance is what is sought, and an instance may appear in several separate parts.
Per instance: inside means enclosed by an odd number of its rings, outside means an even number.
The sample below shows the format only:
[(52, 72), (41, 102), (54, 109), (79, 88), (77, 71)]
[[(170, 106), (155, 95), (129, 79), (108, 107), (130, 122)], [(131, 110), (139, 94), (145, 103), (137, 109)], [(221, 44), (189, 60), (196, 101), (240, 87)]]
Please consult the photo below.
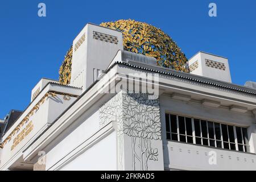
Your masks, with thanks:
[(143, 93), (123, 97), (123, 132), (132, 137), (161, 139), (159, 100), (148, 100)]

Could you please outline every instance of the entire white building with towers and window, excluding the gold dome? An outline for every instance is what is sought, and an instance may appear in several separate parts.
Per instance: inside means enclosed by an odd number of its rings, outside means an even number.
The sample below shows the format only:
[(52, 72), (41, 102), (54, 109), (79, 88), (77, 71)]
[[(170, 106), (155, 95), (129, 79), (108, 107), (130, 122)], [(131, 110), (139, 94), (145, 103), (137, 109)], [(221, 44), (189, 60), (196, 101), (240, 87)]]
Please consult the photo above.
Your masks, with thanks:
[(79, 41), (71, 84), (43, 78), (3, 134), (1, 170), (256, 169), (256, 90), (228, 59), (199, 52), (183, 73), (123, 51), (119, 31), (89, 23)]

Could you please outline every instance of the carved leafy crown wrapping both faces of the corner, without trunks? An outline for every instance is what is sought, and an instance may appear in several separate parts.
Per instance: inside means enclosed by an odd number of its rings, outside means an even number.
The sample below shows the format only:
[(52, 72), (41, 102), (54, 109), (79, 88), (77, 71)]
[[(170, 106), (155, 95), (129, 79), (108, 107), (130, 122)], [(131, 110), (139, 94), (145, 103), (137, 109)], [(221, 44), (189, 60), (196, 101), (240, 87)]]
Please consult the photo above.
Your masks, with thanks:
[(129, 136), (161, 139), (159, 100), (148, 100), (143, 93), (122, 93), (100, 107), (100, 126), (117, 121), (119, 130)]

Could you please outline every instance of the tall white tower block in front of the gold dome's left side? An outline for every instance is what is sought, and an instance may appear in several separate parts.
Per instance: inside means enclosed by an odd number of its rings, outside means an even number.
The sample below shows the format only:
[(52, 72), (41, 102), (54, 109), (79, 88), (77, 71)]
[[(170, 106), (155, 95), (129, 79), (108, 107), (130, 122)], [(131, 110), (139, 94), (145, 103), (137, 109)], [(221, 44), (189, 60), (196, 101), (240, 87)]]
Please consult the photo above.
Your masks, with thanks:
[[(116, 36), (118, 43), (93, 39), (93, 31)], [(73, 45), (76, 45), (83, 35), (85, 40), (81, 46), (76, 51), (73, 48), (71, 85), (85, 90), (93, 83), (93, 69), (105, 71), (117, 51), (123, 49), (123, 39), (122, 32), (88, 23), (77, 35)]]

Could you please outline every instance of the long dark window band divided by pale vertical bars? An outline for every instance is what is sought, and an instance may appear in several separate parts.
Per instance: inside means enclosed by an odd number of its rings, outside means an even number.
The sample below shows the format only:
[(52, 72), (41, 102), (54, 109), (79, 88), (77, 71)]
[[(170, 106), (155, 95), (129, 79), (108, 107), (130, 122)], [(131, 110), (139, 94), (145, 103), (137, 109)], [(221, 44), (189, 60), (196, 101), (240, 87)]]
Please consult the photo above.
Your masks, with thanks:
[(166, 113), (168, 140), (250, 152), (247, 128)]

